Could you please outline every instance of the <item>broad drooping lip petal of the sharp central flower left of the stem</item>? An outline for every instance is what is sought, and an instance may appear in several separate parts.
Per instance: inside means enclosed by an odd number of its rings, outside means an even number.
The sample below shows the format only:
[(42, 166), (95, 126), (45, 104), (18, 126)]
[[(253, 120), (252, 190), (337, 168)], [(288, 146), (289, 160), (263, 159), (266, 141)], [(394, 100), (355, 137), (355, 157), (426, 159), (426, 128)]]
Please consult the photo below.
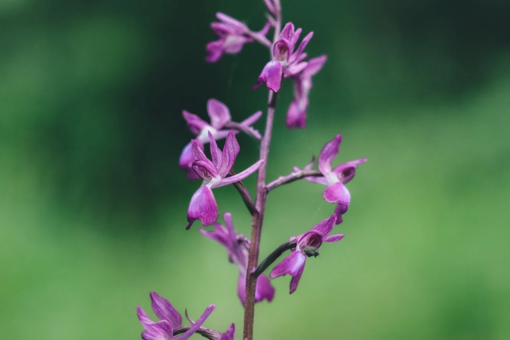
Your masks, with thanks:
[(209, 187), (202, 186), (191, 197), (188, 208), (188, 222), (186, 229), (191, 227), (195, 220), (200, 220), (203, 225), (211, 225), (218, 219), (218, 205), (213, 191)]

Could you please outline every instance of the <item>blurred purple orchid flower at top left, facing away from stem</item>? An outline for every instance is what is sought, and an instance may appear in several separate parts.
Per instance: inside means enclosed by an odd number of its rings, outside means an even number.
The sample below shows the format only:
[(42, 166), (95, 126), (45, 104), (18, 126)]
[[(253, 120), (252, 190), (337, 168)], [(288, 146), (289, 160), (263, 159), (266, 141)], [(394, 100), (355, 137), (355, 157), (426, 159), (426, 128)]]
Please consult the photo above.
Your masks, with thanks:
[(264, 45), (271, 46), (271, 43), (266, 38), (266, 34), (271, 28), (269, 23), (261, 31), (252, 32), (244, 23), (226, 14), (218, 12), (216, 17), (220, 22), (212, 22), (211, 28), (218, 35), (219, 39), (206, 45), (208, 52), (206, 61), (215, 63), (225, 53), (239, 53), (245, 43), (255, 40)]

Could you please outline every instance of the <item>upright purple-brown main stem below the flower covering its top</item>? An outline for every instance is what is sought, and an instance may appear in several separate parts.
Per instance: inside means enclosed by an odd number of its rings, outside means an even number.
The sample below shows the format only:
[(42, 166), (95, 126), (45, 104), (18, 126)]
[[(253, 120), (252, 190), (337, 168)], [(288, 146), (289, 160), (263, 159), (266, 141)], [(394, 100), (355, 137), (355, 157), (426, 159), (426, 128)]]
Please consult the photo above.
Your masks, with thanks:
[(257, 268), (259, 261), (260, 236), (262, 232), (262, 221), (266, 207), (266, 170), (271, 144), (271, 132), (273, 129), (274, 108), (276, 106), (277, 92), (269, 91), (269, 104), (267, 108), (266, 129), (260, 145), (260, 159), (264, 160), (258, 171), (257, 177), (257, 198), (255, 199), (256, 213), (251, 219), (251, 243), (248, 255), (248, 268), (246, 275), (246, 302), (244, 305), (244, 333), (243, 338), (253, 339), (253, 317), (255, 306), (255, 287), (257, 277), (253, 271)]

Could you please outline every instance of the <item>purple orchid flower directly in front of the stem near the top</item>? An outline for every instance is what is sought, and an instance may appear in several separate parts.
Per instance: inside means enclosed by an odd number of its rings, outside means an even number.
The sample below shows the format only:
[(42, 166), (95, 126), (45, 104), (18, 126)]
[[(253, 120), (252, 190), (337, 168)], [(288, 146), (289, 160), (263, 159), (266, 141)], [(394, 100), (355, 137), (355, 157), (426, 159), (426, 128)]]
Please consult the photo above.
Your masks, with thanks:
[(257, 79), (257, 85), (253, 86), (253, 90), (262, 84), (266, 84), (268, 89), (278, 92), (282, 83), (282, 76), (296, 75), (307, 67), (308, 63), (303, 61), (307, 58), (307, 54), (303, 53), (303, 50), (312, 39), (313, 34), (313, 32), (310, 32), (305, 36), (294, 52), (296, 42), (301, 35), (301, 29), (294, 31), (294, 24), (288, 22), (273, 45), (271, 53), (273, 60), (264, 66)]

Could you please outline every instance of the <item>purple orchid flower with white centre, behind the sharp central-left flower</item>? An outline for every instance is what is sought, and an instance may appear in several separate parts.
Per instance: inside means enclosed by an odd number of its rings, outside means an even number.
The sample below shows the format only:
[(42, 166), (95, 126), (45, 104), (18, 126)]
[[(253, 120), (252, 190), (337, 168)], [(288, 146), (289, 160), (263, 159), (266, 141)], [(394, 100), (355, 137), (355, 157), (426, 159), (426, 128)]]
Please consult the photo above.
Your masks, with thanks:
[[(230, 129), (223, 129), (225, 125), (232, 121), (232, 117), (230, 115), (230, 110), (228, 110), (227, 106), (219, 100), (209, 99), (207, 101), (207, 113), (211, 119), (211, 123), (202, 120), (197, 115), (189, 113), (188, 111), (183, 111), (184, 119), (188, 124), (191, 132), (197, 136), (195, 141), (197, 142), (198, 147), (203, 150), (203, 144), (209, 143), (209, 135), (208, 132), (211, 132), (215, 140), (225, 138)], [(262, 111), (258, 111), (241, 123), (239, 123), (239, 127), (248, 130), (253, 136), (258, 139), (261, 139), (259, 132), (251, 127), (251, 125), (256, 122), (262, 116)], [(236, 131), (237, 132), (237, 131)], [(191, 142), (188, 143), (183, 151), (181, 152), (181, 156), (179, 158), (179, 167), (186, 171), (188, 179), (198, 179), (198, 175), (191, 169), (192, 163), (195, 161), (193, 156), (193, 152), (191, 150)]]

